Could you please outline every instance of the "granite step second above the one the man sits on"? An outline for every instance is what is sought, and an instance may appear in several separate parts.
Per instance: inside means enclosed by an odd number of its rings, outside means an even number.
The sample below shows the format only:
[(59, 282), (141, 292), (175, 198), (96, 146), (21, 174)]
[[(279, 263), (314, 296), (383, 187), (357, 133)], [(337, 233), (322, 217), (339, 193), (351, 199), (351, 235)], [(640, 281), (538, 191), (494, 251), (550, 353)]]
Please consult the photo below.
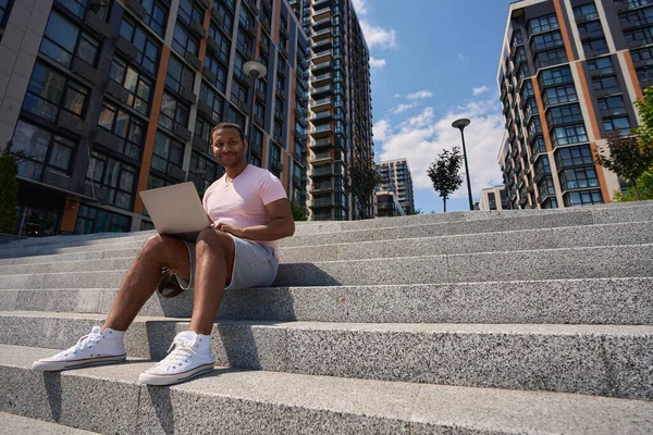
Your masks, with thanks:
[[(280, 248), (282, 263), (653, 243), (652, 222), (522, 229)], [(138, 247), (0, 260), (0, 276), (127, 269)], [(124, 257), (124, 258), (120, 258)], [(38, 260), (41, 260), (40, 262)]]

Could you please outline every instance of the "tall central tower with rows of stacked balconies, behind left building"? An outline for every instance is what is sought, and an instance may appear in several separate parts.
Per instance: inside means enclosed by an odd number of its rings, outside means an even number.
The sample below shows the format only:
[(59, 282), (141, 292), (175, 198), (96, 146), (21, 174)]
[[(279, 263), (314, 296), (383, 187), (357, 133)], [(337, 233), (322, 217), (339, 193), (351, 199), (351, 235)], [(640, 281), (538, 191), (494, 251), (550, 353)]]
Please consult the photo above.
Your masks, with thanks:
[(373, 198), (346, 195), (347, 166), (372, 164), (369, 51), (352, 0), (298, 1), (310, 38), (309, 219), (374, 215)]

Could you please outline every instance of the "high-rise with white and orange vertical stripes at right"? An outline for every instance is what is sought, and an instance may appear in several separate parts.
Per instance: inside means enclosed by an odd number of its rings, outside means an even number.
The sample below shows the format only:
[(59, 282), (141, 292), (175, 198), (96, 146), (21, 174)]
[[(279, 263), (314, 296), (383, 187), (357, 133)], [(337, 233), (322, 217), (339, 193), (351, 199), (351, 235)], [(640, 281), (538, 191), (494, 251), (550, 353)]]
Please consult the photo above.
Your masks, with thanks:
[(498, 154), (512, 208), (611, 202), (621, 183), (595, 163), (606, 135), (638, 125), (653, 84), (653, 0), (510, 4), (497, 82)]

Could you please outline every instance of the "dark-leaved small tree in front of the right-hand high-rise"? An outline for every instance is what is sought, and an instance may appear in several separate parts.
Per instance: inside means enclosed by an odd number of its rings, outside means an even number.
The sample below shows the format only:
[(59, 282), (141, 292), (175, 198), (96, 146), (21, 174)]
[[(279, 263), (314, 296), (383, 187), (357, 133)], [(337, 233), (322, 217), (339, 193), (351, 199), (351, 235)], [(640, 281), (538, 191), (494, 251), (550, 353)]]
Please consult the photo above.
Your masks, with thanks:
[[(643, 136), (620, 136), (619, 132), (607, 134), (607, 147), (596, 152), (596, 162), (630, 183), (637, 200), (641, 199), (638, 179), (653, 165), (653, 144), (645, 142)], [(605, 154), (605, 148), (608, 153)]]

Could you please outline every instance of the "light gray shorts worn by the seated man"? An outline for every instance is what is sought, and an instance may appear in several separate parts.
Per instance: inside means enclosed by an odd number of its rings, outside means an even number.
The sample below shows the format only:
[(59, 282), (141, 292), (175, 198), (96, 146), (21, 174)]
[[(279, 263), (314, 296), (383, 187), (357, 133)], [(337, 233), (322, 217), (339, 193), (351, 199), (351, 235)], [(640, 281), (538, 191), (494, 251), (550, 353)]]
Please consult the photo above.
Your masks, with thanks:
[[(229, 233), (227, 233), (229, 234)], [(251, 287), (270, 287), (276, 277), (279, 261), (274, 257), (274, 249), (269, 246), (245, 240), (230, 234), (236, 247), (234, 253), (234, 270), (232, 281), (225, 289), (239, 289)], [(187, 283), (177, 276), (184, 290), (193, 288), (195, 276), (195, 243), (186, 241), (190, 257), (190, 282)]]

